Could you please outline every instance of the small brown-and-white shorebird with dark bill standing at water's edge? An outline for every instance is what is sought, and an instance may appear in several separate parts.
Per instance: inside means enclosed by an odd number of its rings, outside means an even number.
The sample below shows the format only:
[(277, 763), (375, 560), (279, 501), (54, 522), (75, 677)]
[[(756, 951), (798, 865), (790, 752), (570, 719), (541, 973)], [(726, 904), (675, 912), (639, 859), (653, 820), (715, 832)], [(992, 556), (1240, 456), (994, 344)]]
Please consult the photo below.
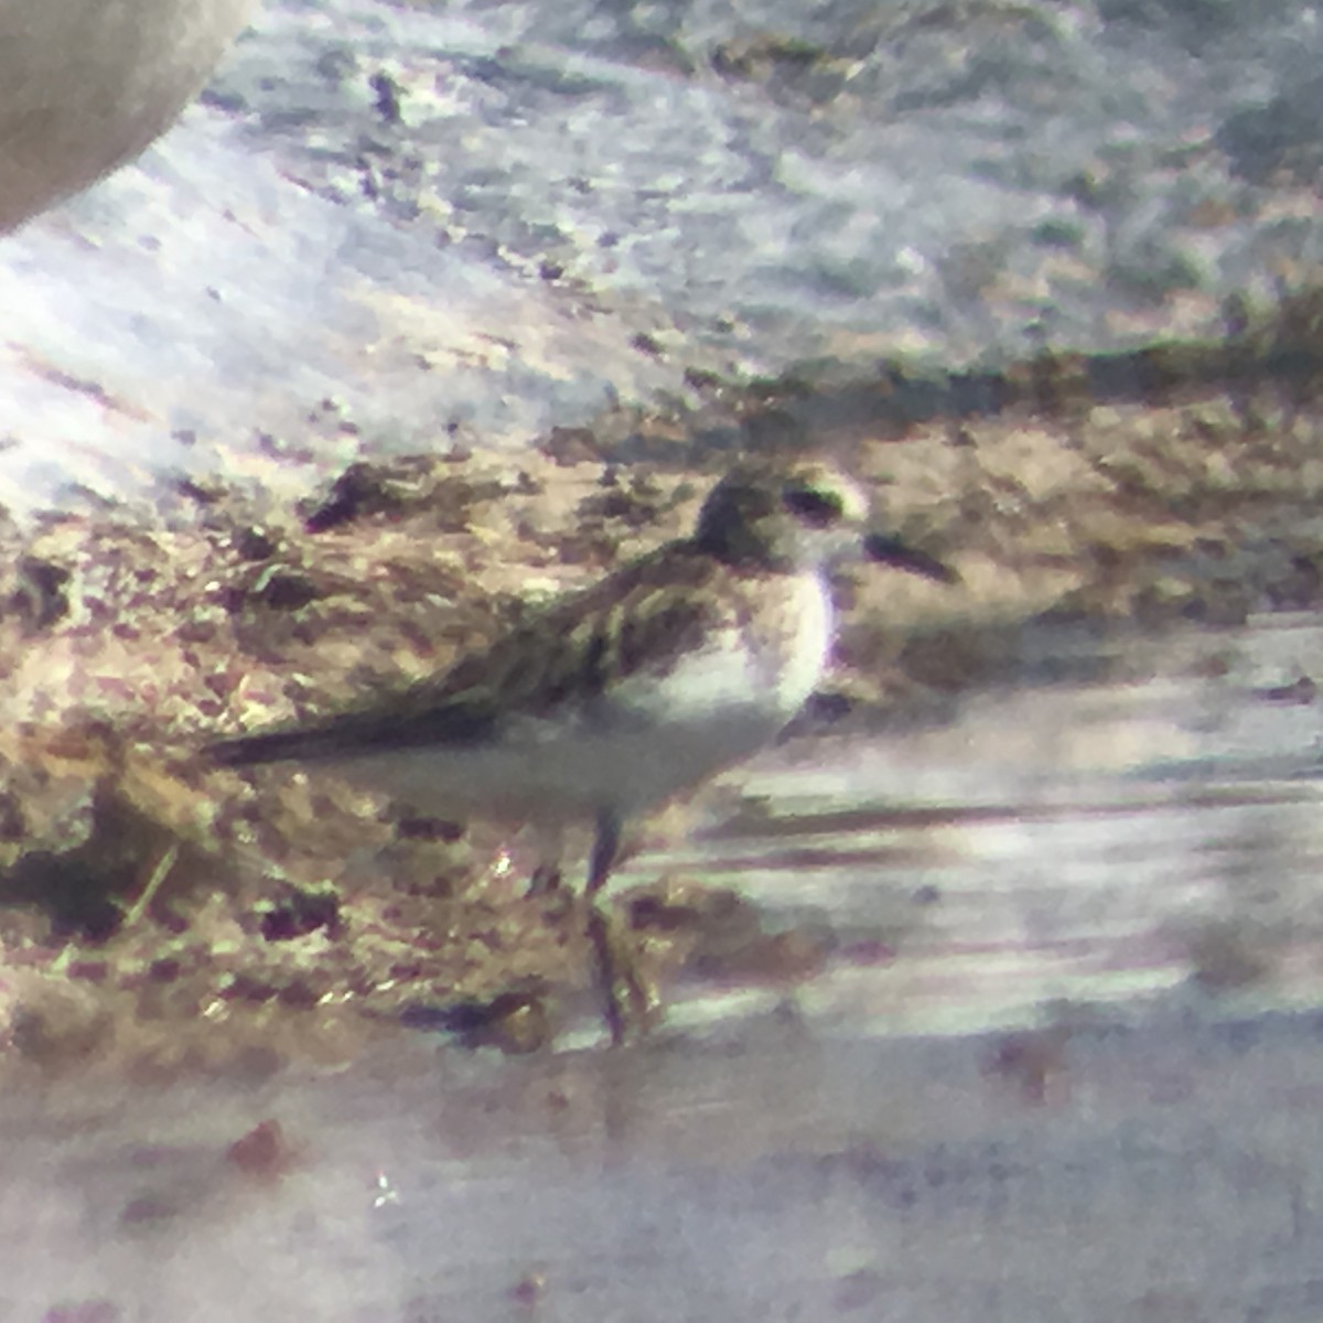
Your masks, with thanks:
[[(590, 820), (591, 901), (626, 819), (747, 758), (814, 691), (835, 635), (827, 566), (855, 550), (954, 578), (869, 533), (867, 516), (863, 492), (830, 464), (741, 466), (712, 490), (691, 537), (553, 602), (438, 677), (208, 751), (229, 766), (319, 763), (438, 816), (536, 824), (548, 840)], [(619, 1040), (606, 921), (595, 905), (590, 916)]]

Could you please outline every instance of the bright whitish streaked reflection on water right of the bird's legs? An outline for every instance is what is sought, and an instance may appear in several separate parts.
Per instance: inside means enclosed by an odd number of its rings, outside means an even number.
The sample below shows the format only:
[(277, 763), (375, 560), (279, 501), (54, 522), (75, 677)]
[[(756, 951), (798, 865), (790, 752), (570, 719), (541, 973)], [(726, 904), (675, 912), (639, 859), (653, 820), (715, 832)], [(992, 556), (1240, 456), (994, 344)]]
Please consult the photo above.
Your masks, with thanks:
[[(1144, 650), (1148, 651), (1147, 648)], [(972, 1032), (1187, 984), (1323, 992), (1314, 618), (1170, 639), (1162, 669), (970, 699), (941, 729), (791, 744), (745, 803), (632, 878), (736, 884), (830, 927), (815, 1027)], [(1303, 701), (1302, 701), (1303, 700)], [(679, 990), (671, 1025), (783, 999)]]

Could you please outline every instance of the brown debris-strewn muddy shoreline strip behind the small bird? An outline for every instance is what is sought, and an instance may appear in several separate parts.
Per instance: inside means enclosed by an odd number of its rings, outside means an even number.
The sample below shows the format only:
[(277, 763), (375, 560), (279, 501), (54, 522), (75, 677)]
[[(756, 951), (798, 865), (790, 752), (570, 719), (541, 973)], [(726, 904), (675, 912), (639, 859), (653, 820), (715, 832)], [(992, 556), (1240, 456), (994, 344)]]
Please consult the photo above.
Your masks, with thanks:
[[(886, 520), (963, 579), (847, 572), (840, 664), (798, 736), (941, 721), (979, 685), (1043, 680), (1044, 631), (1315, 606), (1323, 409), (1307, 356), (1287, 353), (1302, 318), (1244, 360), (1152, 351), (1143, 363), (1168, 366), (1107, 401), (1086, 389), (1097, 372), (1062, 360), (1008, 374), (995, 410), (919, 419), (877, 405), (894, 372), (871, 409), (867, 385), (849, 409), (802, 381), (714, 386), (701, 417), (556, 431), (517, 466), (442, 447), (356, 464), (280, 508), (258, 464), (242, 490), (184, 483), (155, 513), (5, 528), (8, 1060), (266, 1070), (351, 1057), (419, 1016), (511, 1050), (548, 1041), (585, 991), (586, 947), (569, 897), (527, 894), (517, 840), (333, 781), (212, 771), (194, 750), (406, 684), (529, 601), (677, 536), (732, 450), (843, 455)], [(636, 844), (684, 822), (672, 810)], [(685, 885), (618, 901), (663, 982), (740, 910)], [(734, 931), (724, 949), (747, 943), (770, 976), (812, 964), (775, 954), (742, 912)]]

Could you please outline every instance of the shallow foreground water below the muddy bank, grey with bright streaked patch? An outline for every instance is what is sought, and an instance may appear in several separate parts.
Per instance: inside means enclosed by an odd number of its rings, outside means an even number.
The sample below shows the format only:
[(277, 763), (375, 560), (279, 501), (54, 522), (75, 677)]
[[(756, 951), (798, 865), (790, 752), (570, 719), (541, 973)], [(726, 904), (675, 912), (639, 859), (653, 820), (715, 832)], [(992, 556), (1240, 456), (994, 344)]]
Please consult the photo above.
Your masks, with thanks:
[(638, 1046), (11, 1091), (0, 1320), (1316, 1319), (1320, 640), (1058, 636), (771, 751), (617, 885), (737, 882), (824, 962)]

